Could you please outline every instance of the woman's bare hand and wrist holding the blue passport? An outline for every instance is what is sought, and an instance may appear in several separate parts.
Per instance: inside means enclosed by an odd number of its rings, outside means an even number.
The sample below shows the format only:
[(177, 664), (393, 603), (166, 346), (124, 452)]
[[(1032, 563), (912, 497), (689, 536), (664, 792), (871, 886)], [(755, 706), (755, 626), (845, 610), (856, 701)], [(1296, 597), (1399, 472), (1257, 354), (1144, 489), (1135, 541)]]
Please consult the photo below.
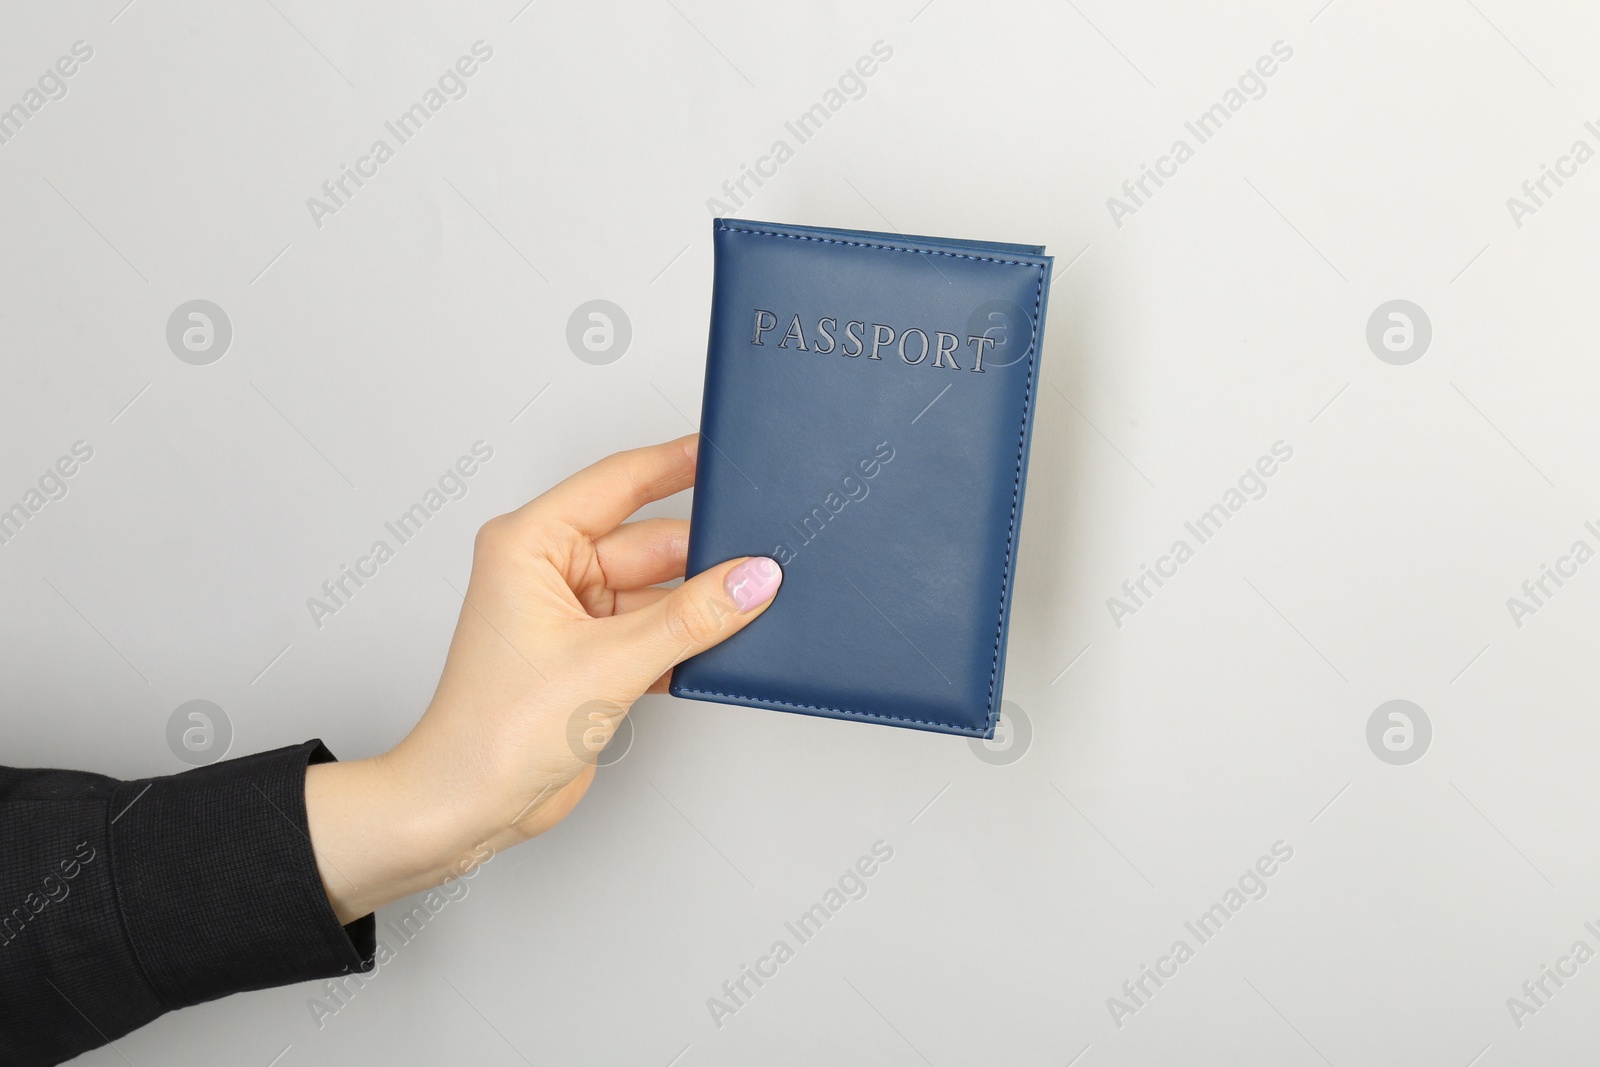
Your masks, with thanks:
[(390, 752), (312, 766), (312, 846), (339, 921), (477, 867), (582, 798), (629, 707), (744, 629), (782, 581), (728, 560), (677, 589), (688, 523), (624, 520), (694, 483), (698, 437), (608, 456), (478, 531), (445, 672)]

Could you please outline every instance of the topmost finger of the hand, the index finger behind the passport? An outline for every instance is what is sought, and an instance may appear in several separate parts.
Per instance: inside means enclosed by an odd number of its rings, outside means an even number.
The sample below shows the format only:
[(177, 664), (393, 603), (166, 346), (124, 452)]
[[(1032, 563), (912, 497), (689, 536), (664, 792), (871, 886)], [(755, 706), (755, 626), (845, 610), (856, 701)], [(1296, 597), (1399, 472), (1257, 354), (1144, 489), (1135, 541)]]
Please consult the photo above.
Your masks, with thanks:
[(690, 434), (675, 442), (606, 456), (507, 518), (517, 526), (563, 523), (586, 537), (602, 537), (645, 504), (694, 485), (698, 450), (699, 435)]

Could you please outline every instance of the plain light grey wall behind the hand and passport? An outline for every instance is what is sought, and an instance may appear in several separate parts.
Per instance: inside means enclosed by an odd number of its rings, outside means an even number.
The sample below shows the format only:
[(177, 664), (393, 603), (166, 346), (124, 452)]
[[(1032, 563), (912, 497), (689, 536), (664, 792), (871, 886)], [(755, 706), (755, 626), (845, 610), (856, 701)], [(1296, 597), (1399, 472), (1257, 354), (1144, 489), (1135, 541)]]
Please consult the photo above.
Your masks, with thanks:
[[(168, 718), (194, 699), (234, 755), (392, 744), (477, 525), (691, 429), (706, 202), (874, 42), (893, 58), (866, 94), (738, 214), (1058, 261), (1005, 678), (1021, 760), (646, 697), (576, 814), (323, 1025), (317, 985), (282, 989), (83, 1062), (1589, 1053), (1600, 961), (1520, 1027), (1507, 998), (1600, 949), (1600, 563), (1520, 627), (1507, 598), (1600, 547), (1600, 162), (1522, 226), (1507, 197), (1600, 147), (1600, 13), (125, 3), (10, 5), (0, 30), (0, 106), (94, 50), (0, 146), (0, 507), (94, 450), (0, 545), (6, 763), (179, 771)], [(478, 40), (466, 98), (315, 226), (307, 197)], [(1197, 146), (1186, 120), (1274, 42), (1293, 58)], [(1194, 158), (1117, 226), (1107, 198), (1178, 138)], [(166, 346), (190, 299), (232, 323), (208, 366)], [(566, 347), (590, 299), (632, 325), (610, 365)], [(1392, 299), (1432, 323), (1403, 366), (1366, 344)], [(318, 629), (306, 600), (477, 440), (494, 458), (466, 499)], [(1267, 494), (1117, 625), (1107, 598), (1280, 440)], [(1390, 699), (1432, 725), (1403, 766), (1366, 741)], [(707, 998), (878, 840), (870, 893), (718, 1029)], [(1198, 945), (1184, 921), (1275, 841), (1269, 893)], [(1195, 957), (1117, 1025), (1107, 998), (1181, 937)]]

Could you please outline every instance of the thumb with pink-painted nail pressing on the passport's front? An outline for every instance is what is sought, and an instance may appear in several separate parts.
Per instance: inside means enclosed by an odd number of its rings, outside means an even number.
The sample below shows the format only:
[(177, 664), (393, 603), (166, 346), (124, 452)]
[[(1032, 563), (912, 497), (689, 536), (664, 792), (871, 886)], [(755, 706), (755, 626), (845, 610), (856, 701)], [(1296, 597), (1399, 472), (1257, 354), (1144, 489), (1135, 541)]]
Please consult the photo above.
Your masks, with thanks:
[(646, 608), (613, 616), (622, 630), (616, 646), (621, 680), (643, 693), (677, 664), (749, 625), (782, 581), (782, 568), (765, 555), (726, 560)]

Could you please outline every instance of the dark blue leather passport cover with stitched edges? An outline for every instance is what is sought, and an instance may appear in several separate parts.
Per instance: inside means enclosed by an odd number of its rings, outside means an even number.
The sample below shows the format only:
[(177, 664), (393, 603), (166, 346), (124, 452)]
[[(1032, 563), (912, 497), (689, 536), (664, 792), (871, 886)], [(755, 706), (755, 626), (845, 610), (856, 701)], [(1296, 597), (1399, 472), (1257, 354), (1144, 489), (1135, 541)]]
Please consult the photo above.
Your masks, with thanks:
[(688, 573), (784, 569), (701, 701), (994, 736), (1051, 258), (718, 219)]

